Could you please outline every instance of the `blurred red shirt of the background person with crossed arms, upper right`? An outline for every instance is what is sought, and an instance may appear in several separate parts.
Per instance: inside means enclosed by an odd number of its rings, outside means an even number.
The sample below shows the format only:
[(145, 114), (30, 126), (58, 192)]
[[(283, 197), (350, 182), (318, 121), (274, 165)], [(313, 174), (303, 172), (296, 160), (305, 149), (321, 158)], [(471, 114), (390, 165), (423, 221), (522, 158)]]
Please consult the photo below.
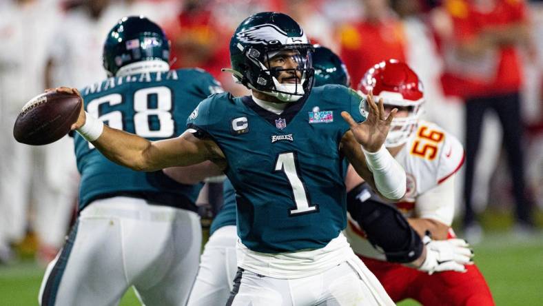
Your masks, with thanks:
[[(453, 40), (457, 42), (480, 39), (485, 29), (498, 29), (512, 23), (526, 20), (526, 4), (522, 0), (495, 0), (497, 3), (489, 12), (477, 10), (469, 1), (445, 1), (445, 8), (453, 21)], [(447, 48), (448, 45), (444, 45)], [(445, 50), (444, 50), (445, 52)], [(447, 61), (447, 55), (446, 61)], [(442, 76), (445, 94), (471, 98), (491, 94), (518, 92), (522, 83), (522, 63), (516, 46), (502, 45), (495, 52), (484, 55), (485, 60), (467, 58), (449, 62), (448, 70)], [(477, 65), (481, 65), (478, 67)], [(475, 68), (478, 72), (467, 72)], [(482, 69), (481, 69), (482, 68)], [(483, 75), (488, 70), (489, 75)]]

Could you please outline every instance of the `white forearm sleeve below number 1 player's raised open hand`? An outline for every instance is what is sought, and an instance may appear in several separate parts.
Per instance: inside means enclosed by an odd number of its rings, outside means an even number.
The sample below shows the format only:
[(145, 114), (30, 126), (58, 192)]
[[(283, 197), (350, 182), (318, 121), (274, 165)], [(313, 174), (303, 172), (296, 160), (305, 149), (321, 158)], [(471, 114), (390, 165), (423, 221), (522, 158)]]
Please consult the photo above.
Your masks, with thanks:
[(391, 200), (399, 200), (406, 190), (405, 171), (392, 157), (383, 145), (377, 152), (367, 152), (362, 147), (366, 156), (369, 170), (373, 172), (373, 180), (377, 190)]

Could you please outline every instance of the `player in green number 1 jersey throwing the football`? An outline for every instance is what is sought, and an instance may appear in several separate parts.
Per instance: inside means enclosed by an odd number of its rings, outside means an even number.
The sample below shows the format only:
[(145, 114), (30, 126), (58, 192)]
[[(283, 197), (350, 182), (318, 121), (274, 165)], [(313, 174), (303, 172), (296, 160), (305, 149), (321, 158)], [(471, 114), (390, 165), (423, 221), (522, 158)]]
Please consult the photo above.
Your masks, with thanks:
[(392, 305), (341, 234), (342, 174), (347, 157), (382, 196), (403, 196), (405, 172), (383, 146), (397, 110), (385, 116), (369, 94), (368, 113), (340, 85), (312, 89), (312, 50), (287, 15), (254, 14), (230, 42), (231, 71), (252, 96), (209, 96), (176, 139), (149, 141), (83, 110), (72, 126), (133, 170), (213, 161), (227, 174), (239, 198), (239, 269), (227, 305)]

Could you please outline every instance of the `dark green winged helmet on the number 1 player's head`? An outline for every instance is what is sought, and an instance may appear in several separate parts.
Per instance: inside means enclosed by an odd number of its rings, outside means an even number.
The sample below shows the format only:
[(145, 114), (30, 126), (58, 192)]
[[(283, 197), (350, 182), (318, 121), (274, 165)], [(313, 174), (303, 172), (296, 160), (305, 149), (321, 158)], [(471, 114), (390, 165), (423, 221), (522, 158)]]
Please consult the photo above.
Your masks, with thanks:
[[(270, 59), (290, 52), (296, 68), (269, 67)], [(230, 61), (236, 81), (245, 87), (275, 96), (283, 102), (298, 101), (313, 85), (313, 45), (302, 28), (287, 14), (260, 12), (245, 19), (230, 40)], [(279, 83), (282, 72), (293, 74), (291, 83)]]

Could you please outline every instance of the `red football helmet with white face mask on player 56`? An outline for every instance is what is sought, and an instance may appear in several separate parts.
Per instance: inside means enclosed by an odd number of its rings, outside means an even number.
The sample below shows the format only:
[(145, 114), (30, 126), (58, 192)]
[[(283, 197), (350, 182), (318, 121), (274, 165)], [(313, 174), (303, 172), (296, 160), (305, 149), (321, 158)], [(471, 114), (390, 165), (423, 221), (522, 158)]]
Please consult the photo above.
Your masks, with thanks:
[(382, 99), (385, 105), (407, 107), (409, 114), (393, 119), (385, 140), (386, 147), (402, 145), (416, 130), (422, 114), (424, 89), (417, 74), (396, 59), (382, 61), (370, 68), (358, 85), (362, 96), (367, 96), (370, 90), (373, 90), (376, 103)]

